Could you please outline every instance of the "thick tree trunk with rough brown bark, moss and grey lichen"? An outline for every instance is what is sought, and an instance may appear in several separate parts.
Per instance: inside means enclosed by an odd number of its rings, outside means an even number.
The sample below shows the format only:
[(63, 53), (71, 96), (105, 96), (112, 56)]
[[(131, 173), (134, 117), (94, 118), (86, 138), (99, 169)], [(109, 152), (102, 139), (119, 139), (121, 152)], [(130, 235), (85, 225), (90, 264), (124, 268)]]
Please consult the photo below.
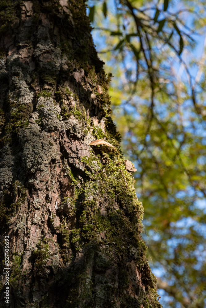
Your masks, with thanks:
[(84, 1), (0, 10), (0, 306), (161, 307)]

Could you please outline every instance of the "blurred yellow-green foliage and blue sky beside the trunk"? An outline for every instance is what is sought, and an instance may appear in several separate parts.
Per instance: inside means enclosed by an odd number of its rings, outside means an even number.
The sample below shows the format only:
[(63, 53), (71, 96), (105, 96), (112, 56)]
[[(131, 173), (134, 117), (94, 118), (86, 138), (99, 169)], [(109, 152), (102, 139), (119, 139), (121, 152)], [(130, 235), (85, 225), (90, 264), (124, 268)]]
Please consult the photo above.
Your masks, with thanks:
[[(206, 305), (205, 0), (88, 2), (164, 307)], [(147, 237), (148, 235), (148, 237)], [(161, 301), (161, 300), (160, 300)]]

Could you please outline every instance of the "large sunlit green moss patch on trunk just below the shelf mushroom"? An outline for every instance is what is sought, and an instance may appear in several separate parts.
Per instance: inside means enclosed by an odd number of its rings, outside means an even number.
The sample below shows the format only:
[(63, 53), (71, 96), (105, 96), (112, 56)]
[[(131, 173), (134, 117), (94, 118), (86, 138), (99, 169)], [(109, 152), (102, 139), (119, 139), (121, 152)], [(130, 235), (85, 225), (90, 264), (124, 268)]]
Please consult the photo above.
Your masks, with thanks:
[[(137, 201), (133, 180), (124, 166), (124, 159), (117, 152), (90, 157), (83, 157), (87, 166), (88, 176), (92, 181), (86, 181), (78, 191), (83, 199), (78, 206), (76, 218), (78, 228), (73, 228), (69, 240), (76, 251), (87, 242), (99, 241), (99, 234), (106, 234), (108, 258), (132, 251), (132, 258), (137, 264), (145, 262), (145, 243), (139, 237), (141, 231), (142, 205)], [(122, 178), (124, 175), (127, 186)], [(99, 200), (108, 200), (107, 215), (101, 215)], [(76, 198), (78, 204), (78, 198)], [(117, 204), (120, 209), (115, 209)], [(127, 239), (127, 240), (126, 240)], [(76, 243), (78, 242), (78, 245)], [(133, 250), (132, 250), (133, 249)], [(136, 249), (136, 250), (135, 250)], [(136, 251), (136, 254), (134, 253)]]

